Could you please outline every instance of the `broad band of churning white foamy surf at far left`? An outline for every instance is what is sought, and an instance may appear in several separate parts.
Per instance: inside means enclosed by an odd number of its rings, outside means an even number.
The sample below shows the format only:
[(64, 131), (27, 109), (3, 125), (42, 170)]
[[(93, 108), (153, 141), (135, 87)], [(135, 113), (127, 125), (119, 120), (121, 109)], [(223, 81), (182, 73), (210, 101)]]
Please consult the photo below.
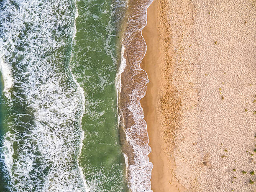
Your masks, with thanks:
[(63, 68), (67, 56), (61, 51), (75, 33), (72, 5), (72, 0), (1, 2), (1, 72), (6, 92), (13, 87), (6, 102), (20, 105), (10, 114), (0, 148), (10, 191), (87, 191), (77, 162), (83, 90)]

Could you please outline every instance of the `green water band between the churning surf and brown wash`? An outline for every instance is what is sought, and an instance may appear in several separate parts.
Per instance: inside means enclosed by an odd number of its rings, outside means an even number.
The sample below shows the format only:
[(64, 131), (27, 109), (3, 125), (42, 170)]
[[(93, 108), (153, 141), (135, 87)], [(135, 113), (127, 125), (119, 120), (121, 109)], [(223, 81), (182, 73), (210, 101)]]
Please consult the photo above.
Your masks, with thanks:
[(72, 73), (84, 90), (84, 140), (79, 166), (90, 191), (128, 191), (118, 136), (115, 76), (125, 2), (77, 1)]

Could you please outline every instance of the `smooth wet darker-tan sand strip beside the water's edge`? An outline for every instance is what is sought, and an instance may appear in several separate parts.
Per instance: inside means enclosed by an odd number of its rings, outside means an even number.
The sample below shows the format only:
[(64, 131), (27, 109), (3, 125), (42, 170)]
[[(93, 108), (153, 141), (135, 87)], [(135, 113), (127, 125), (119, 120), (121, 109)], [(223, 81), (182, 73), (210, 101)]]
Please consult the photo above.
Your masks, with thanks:
[(152, 151), (148, 154), (149, 161), (153, 163), (151, 172), (151, 189), (153, 191), (179, 192), (182, 187), (174, 180), (171, 169), (174, 164), (169, 164), (163, 147), (166, 146), (161, 139), (159, 119), (159, 94), (161, 88), (161, 67), (164, 62), (163, 47), (159, 36), (159, 2), (154, 0), (148, 8), (147, 26), (142, 30), (142, 36), (147, 45), (146, 54), (141, 62), (141, 69), (148, 74), (146, 95), (141, 99), (144, 119), (147, 123), (149, 137), (148, 145)]

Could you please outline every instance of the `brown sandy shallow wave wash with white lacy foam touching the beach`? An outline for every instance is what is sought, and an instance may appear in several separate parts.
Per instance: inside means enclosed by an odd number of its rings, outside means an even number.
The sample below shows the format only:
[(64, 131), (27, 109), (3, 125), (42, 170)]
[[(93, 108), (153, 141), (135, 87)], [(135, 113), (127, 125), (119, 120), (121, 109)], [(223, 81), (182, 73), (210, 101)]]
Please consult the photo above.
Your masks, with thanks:
[[(147, 23), (147, 8), (152, 0), (128, 1), (127, 24), (123, 35), (122, 61), (116, 79), (123, 153), (131, 191), (151, 191), (148, 133), (140, 100), (146, 93), (148, 77), (140, 64), (146, 53), (141, 34)], [(121, 133), (122, 135), (122, 133)]]

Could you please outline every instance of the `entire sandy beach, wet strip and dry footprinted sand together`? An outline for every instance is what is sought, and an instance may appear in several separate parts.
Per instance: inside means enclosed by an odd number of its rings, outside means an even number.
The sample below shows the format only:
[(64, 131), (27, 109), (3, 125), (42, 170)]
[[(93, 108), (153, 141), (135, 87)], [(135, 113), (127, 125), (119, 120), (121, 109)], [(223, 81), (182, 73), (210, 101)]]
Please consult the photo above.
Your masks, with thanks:
[(155, 192), (256, 191), (255, 29), (255, 0), (148, 8), (142, 107)]

